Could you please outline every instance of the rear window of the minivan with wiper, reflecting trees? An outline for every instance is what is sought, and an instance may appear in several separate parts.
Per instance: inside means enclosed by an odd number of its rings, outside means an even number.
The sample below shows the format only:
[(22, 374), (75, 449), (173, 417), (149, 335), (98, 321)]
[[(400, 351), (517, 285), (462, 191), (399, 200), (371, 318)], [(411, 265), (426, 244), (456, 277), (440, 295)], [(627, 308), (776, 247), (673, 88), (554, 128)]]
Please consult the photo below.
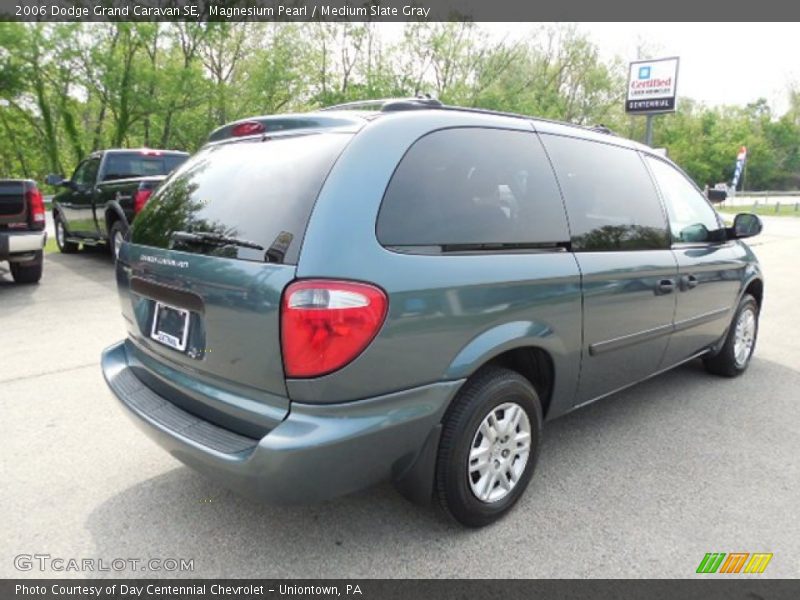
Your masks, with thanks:
[(153, 195), (131, 240), (294, 264), (317, 195), (351, 137), (292, 135), (204, 148)]

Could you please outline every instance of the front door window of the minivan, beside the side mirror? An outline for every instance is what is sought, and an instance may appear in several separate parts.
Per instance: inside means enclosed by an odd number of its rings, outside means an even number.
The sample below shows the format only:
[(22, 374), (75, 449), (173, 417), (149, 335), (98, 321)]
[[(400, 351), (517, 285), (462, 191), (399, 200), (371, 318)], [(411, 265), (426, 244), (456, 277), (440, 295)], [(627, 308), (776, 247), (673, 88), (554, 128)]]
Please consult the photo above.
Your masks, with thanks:
[(672, 165), (647, 157), (664, 203), (672, 239), (676, 242), (708, 242), (719, 229), (717, 214), (697, 188)]

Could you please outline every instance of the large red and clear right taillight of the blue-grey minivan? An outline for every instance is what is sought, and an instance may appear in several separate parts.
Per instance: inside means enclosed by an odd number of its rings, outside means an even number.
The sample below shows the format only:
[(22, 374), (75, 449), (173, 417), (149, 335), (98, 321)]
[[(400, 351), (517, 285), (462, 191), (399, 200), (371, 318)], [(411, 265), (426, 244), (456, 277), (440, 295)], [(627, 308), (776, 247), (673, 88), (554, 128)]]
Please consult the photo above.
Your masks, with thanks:
[(365, 283), (308, 280), (283, 296), (281, 347), (287, 377), (340, 369), (366, 348), (386, 318), (383, 290)]

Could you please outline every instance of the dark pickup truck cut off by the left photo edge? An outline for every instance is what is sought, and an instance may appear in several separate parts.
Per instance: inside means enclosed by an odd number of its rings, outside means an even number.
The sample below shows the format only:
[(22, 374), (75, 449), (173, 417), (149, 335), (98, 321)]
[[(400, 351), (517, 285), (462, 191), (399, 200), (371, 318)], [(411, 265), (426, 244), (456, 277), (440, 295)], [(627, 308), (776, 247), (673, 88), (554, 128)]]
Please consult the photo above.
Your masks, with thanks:
[(31, 179), (0, 179), (0, 261), (11, 265), (16, 283), (42, 278), (44, 198)]

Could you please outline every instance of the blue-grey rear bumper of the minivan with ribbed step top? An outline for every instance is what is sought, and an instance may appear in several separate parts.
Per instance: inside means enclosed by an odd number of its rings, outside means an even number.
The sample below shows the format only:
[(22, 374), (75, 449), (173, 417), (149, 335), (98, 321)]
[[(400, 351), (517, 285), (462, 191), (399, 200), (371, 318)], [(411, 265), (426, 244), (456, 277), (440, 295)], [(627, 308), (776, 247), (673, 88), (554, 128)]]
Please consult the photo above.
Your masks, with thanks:
[(111, 390), (141, 429), (172, 456), (239, 493), (276, 504), (318, 502), (400, 479), (416, 463), (461, 381), (345, 404), (293, 402), (260, 440), (171, 404), (129, 368), (124, 343), (103, 352)]

